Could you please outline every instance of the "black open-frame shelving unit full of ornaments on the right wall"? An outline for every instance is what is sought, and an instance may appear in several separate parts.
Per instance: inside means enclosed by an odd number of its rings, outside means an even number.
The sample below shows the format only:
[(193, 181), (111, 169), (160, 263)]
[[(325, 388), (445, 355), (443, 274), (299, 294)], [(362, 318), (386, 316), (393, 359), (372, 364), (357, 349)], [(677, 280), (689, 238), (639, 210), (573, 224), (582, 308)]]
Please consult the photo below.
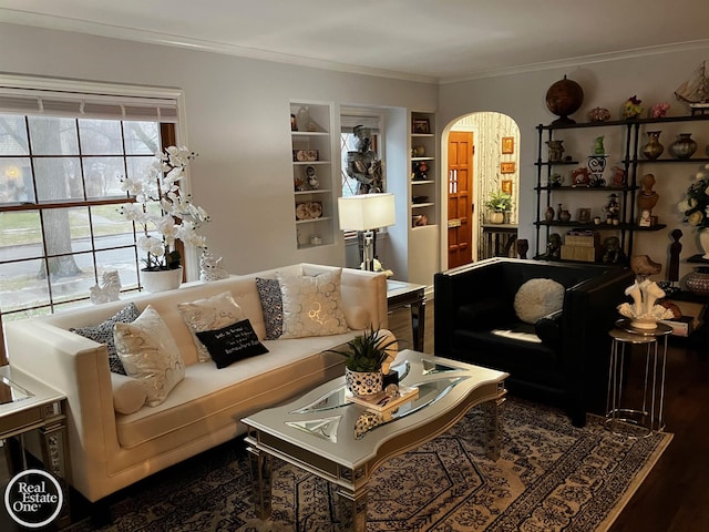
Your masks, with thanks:
[[(669, 164), (686, 164), (686, 163), (707, 163), (709, 158), (700, 153), (700, 150), (688, 160), (678, 160), (670, 155), (669, 145), (674, 142), (674, 139), (668, 135), (662, 140), (665, 151), (659, 158), (648, 160), (643, 155), (643, 147), (648, 142), (646, 133), (648, 131), (657, 131), (661, 126), (667, 126), (668, 133), (678, 134), (679, 132), (703, 133), (705, 142), (706, 134), (709, 132), (707, 125), (709, 122), (709, 115), (696, 115), (696, 116), (668, 116), (659, 119), (637, 119), (627, 121), (607, 121), (607, 122), (592, 122), (592, 123), (577, 123), (577, 124), (549, 124), (538, 125), (538, 146), (537, 146), (537, 161), (535, 166), (537, 168), (537, 182), (535, 186), (536, 192), (536, 258), (547, 258), (545, 254), (546, 242), (548, 242), (549, 234), (553, 228), (561, 227), (566, 229), (593, 229), (603, 232), (604, 234), (614, 234), (619, 237), (621, 249), (626, 257), (633, 255), (634, 239), (637, 234), (656, 232), (667, 227), (666, 224), (655, 223), (650, 226), (641, 226), (638, 224), (638, 209), (636, 208), (636, 193), (640, 188), (638, 183), (641, 175), (645, 173), (651, 173), (654, 171), (653, 165), (660, 165), (662, 172), (662, 178), (670, 178), (668, 175)], [(688, 127), (684, 127), (684, 126)], [(681, 131), (678, 130), (679, 126)], [(687, 131), (685, 131), (687, 130)], [(610, 149), (606, 145), (608, 165), (603, 173), (605, 183), (603, 186), (574, 186), (568, 176), (566, 182), (561, 186), (555, 186), (552, 183), (552, 175), (555, 173), (568, 173), (571, 170), (579, 166), (586, 166), (584, 162), (584, 152), (588, 153), (588, 156), (593, 156), (590, 152), (592, 140), (594, 136), (604, 136), (609, 141)], [(553, 140), (563, 140), (566, 152), (573, 155), (563, 157), (561, 161), (548, 161), (546, 156), (546, 142)], [(701, 144), (700, 144), (701, 145)], [(625, 173), (625, 182), (620, 185), (613, 186), (610, 180), (609, 168), (617, 166)], [(543, 209), (546, 211), (549, 206), (554, 207), (558, 203), (563, 203), (566, 207), (582, 207), (586, 203), (583, 198), (590, 198), (593, 195), (598, 194), (616, 194), (618, 196), (618, 203), (620, 204), (620, 213), (617, 224), (607, 224), (605, 219), (602, 219), (600, 224), (595, 224), (593, 219), (590, 222), (579, 222), (578, 219), (571, 219), (563, 222), (558, 217), (546, 221), (544, 218)], [(590, 195), (586, 195), (590, 194)], [(597, 202), (596, 202), (597, 204)], [(544, 236), (544, 238), (542, 238)], [(542, 248), (544, 246), (544, 248)]]

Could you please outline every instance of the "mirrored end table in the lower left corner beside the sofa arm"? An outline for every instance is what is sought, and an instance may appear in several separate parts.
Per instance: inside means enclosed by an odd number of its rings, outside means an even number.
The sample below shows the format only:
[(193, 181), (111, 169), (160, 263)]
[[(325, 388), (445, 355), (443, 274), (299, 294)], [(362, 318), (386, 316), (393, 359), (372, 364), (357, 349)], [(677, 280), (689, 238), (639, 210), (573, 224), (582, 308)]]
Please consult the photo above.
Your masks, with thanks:
[[(59, 391), (12, 369), (0, 367), (0, 440), (4, 440), (6, 459), (11, 475), (28, 469), (22, 438), (39, 430), (44, 469), (58, 478), (63, 491), (63, 507), (56, 521), (60, 528), (71, 523), (69, 481), (71, 474), (66, 437), (66, 398)], [(13, 440), (20, 439), (20, 444)]]

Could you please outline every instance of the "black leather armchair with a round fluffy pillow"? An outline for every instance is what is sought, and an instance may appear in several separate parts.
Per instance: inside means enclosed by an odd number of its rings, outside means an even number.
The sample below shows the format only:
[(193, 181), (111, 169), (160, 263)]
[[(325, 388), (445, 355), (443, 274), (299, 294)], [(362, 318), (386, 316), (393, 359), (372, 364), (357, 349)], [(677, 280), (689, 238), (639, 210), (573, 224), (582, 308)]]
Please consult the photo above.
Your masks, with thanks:
[[(516, 317), (514, 297), (533, 278), (565, 291), (561, 310), (530, 325)], [(511, 393), (559, 406), (582, 427), (587, 411), (605, 405), (608, 331), (634, 278), (615, 266), (513, 258), (438, 273), (435, 354), (507, 371)]]

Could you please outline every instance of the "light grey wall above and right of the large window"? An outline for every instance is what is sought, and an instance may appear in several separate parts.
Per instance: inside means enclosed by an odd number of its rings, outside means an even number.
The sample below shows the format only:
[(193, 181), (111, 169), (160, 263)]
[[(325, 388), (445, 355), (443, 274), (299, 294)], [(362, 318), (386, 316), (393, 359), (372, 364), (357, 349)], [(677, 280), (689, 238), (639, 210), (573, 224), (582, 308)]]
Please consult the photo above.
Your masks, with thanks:
[(341, 241), (296, 248), (290, 100), (434, 109), (438, 95), (431, 84), (14, 24), (0, 23), (0, 49), (4, 73), (184, 90), (185, 142), (199, 153), (191, 165), (195, 203), (212, 215), (209, 249), (232, 273), (345, 263)]

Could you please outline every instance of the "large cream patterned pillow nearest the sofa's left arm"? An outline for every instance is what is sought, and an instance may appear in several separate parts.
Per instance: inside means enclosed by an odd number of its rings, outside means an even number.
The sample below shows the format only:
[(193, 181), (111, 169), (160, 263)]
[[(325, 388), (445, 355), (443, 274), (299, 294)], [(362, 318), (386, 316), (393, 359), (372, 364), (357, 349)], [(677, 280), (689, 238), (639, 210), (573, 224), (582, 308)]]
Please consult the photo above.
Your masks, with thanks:
[(156, 407), (185, 378), (185, 362), (173, 335), (150, 305), (132, 324), (115, 324), (113, 334), (125, 372), (143, 381), (145, 403)]

